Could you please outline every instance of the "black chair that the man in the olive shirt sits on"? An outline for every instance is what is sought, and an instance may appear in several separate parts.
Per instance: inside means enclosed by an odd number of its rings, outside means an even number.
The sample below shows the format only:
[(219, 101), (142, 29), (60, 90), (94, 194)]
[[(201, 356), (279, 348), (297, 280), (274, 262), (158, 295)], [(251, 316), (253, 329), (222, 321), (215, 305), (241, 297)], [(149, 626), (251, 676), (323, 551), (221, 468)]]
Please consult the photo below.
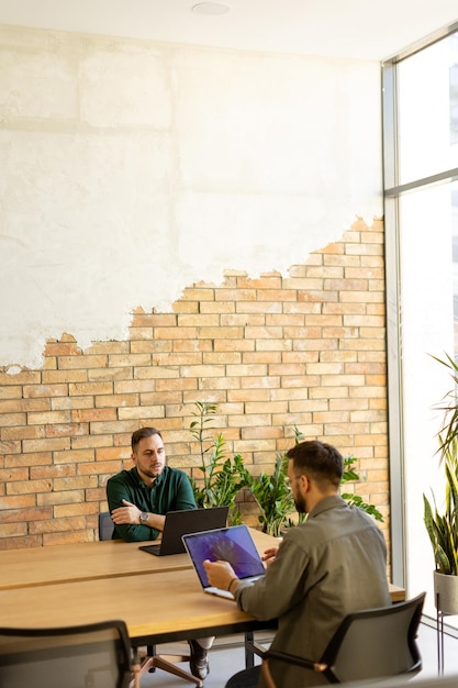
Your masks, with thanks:
[(349, 614), (317, 661), (273, 650), (262, 652), (256, 646), (255, 652), (262, 657), (261, 672), (266, 685), (276, 688), (269, 668), (270, 659), (319, 672), (329, 684), (417, 674), (422, 668), (422, 658), (416, 635), (425, 595), (422, 592), (405, 602)]

